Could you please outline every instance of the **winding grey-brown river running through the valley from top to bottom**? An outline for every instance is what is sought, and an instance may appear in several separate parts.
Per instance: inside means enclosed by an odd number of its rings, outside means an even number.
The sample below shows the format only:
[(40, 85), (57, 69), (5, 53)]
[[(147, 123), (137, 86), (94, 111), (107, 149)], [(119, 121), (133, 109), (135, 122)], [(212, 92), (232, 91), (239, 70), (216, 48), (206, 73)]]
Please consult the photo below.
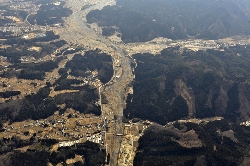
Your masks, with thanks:
[[(99, 2), (96, 5), (90, 6), (89, 8), (86, 8), (82, 11), (78, 11), (76, 13), (73, 13), (73, 17), (74, 19), (77, 20), (78, 24), (80, 25), (81, 29), (84, 32), (87, 32), (87, 34), (89, 36), (91, 36), (91, 38), (95, 39), (96, 41), (100, 41), (101, 43), (106, 44), (108, 47), (111, 47), (114, 49), (114, 51), (116, 51), (117, 53), (120, 54), (121, 57), (121, 66), (120, 68), (122, 69), (122, 74), (119, 78), (116, 78), (116, 80), (112, 83), (112, 84), (108, 84), (106, 86), (107, 89), (111, 89), (114, 93), (118, 93), (120, 97), (121, 104), (120, 104), (120, 108), (118, 109), (118, 112), (116, 114), (117, 120), (115, 121), (115, 135), (119, 135), (123, 133), (123, 129), (122, 129), (122, 119), (123, 119), (123, 109), (124, 109), (124, 99), (125, 99), (125, 94), (126, 91), (124, 91), (124, 89), (128, 88), (128, 84), (130, 83), (131, 77), (133, 77), (132, 74), (132, 69), (131, 69), (131, 58), (127, 55), (125, 55), (125, 53), (123, 52), (122, 49), (120, 49), (118, 44), (113, 43), (111, 40), (109, 40), (108, 38), (97, 34), (93, 29), (89, 28), (86, 24), (86, 22), (84, 22), (84, 20), (82, 19), (82, 15), (86, 16), (87, 13), (89, 13), (91, 10), (97, 9), (97, 8), (102, 8), (104, 6), (104, 4), (106, 4), (109, 0), (102, 0), (101, 2)], [(113, 76), (114, 78), (115, 76)], [(125, 87), (125, 88), (124, 88)], [(112, 101), (109, 101), (110, 103), (112, 103)], [(118, 159), (118, 153), (121, 147), (121, 143), (122, 143), (122, 136), (116, 136), (115, 140), (114, 140), (117, 144), (117, 147), (115, 148), (115, 150), (113, 150), (113, 153), (110, 155), (110, 166), (115, 166), (117, 165), (117, 163), (115, 163), (115, 161), (117, 161)]]

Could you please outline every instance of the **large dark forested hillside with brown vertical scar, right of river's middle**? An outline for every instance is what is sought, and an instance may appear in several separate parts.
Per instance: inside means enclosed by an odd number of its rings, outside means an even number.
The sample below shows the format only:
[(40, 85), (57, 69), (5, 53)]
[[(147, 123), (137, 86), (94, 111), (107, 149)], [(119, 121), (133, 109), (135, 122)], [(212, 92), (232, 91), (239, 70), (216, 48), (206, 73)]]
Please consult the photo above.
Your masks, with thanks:
[(187, 117), (248, 120), (249, 51), (249, 46), (198, 52), (174, 47), (155, 56), (133, 55), (134, 95), (125, 116), (160, 124)]

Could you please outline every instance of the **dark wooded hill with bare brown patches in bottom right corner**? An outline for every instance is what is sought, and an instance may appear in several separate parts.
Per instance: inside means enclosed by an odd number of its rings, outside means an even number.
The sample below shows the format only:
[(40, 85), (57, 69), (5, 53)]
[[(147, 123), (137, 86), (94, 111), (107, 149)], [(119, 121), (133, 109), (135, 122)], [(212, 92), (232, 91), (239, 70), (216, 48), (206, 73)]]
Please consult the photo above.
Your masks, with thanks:
[(249, 131), (227, 120), (153, 125), (139, 140), (134, 165), (249, 165)]

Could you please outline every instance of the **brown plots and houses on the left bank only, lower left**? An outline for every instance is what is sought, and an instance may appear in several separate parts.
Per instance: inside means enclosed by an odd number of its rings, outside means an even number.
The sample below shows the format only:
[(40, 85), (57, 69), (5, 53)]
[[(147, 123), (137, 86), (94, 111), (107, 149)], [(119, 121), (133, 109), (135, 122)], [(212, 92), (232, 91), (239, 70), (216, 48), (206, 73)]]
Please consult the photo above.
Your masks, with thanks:
[[(36, 133), (37, 138), (41, 139), (62, 139), (62, 140), (80, 140), (85, 142), (87, 140), (104, 144), (103, 135), (100, 134), (100, 129), (104, 126), (104, 122), (99, 117), (81, 117), (78, 113), (68, 115), (68, 118), (48, 118), (45, 120), (31, 121), (22, 125), (14, 124), (3, 127), (3, 131), (11, 132), (13, 134), (24, 134), (28, 132), (29, 135)], [(18, 127), (17, 127), (18, 126)], [(7, 133), (6, 133), (7, 134)]]

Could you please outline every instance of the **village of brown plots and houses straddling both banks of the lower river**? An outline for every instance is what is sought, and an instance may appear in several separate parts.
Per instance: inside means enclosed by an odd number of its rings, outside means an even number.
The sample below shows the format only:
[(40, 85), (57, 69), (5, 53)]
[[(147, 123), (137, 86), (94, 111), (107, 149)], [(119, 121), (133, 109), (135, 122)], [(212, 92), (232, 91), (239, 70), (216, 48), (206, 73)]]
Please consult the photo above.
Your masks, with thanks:
[[(81, 114), (79, 111), (68, 109), (64, 114), (58, 111), (47, 119), (26, 120), (14, 122), (10, 125), (4, 124), (0, 132), (0, 139), (11, 139), (19, 137), (29, 140), (35, 137), (37, 140), (58, 140), (58, 147), (73, 146), (75, 144), (91, 141), (107, 147), (107, 153), (111, 153), (107, 145), (113, 144), (114, 132), (109, 128), (114, 120), (107, 120), (92, 114)], [(147, 129), (150, 122), (138, 122), (123, 125), (123, 137), (132, 137), (132, 142), (123, 144), (123, 147), (131, 146), (132, 150), (138, 147), (138, 140)], [(135, 149), (134, 149), (135, 148)], [(127, 148), (125, 148), (127, 149)]]

